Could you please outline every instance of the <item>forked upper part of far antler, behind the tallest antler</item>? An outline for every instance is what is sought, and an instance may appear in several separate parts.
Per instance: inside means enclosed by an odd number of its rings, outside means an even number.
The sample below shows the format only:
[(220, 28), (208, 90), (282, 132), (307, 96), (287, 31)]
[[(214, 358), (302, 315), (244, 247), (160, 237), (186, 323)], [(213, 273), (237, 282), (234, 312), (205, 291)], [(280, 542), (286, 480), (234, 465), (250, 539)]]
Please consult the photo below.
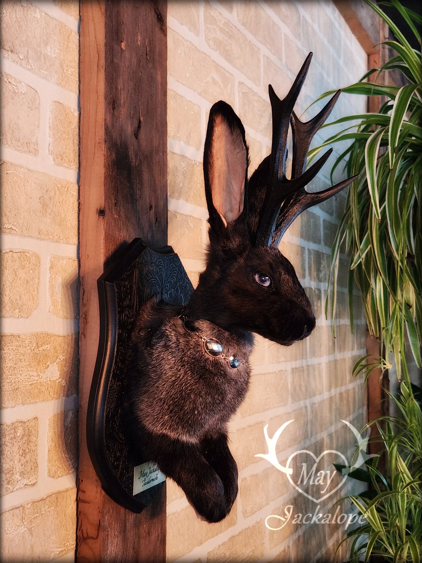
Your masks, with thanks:
[(291, 163), (292, 178), (298, 178), (304, 172), (309, 145), (311, 144), (312, 138), (330, 115), (335, 102), (340, 96), (340, 92), (341, 90), (338, 90), (324, 108), (322, 108), (320, 113), (306, 123), (300, 121), (294, 111), (292, 112), (290, 118), (291, 133), (293, 137), (293, 156)]

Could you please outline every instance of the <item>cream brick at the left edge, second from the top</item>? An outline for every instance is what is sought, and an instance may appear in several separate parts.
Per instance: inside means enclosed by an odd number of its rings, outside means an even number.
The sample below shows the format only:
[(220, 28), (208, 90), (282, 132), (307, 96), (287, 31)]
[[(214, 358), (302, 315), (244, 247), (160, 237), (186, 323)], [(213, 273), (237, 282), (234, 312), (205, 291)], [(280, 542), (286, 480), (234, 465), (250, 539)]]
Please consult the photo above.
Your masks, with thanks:
[(39, 95), (10, 74), (1, 73), (0, 141), (25, 153), (38, 154)]

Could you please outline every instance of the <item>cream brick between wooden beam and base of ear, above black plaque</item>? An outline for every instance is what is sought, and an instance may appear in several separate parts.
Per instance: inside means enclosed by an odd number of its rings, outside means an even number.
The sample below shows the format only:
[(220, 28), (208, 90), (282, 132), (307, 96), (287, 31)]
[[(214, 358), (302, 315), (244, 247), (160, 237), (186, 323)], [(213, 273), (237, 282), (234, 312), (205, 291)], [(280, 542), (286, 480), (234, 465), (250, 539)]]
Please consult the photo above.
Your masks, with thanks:
[(202, 255), (202, 221), (169, 211), (168, 244), (182, 258), (199, 260)]

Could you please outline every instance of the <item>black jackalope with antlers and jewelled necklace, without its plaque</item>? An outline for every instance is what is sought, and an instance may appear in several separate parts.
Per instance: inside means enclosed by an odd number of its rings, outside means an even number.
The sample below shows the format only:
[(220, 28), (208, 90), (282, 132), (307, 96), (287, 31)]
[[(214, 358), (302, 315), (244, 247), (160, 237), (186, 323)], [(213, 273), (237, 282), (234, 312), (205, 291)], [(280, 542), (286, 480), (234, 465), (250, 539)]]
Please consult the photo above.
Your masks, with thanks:
[(340, 93), (315, 118), (300, 121), (293, 106), (311, 57), (284, 100), (269, 86), (271, 155), (249, 181), (245, 129), (230, 105), (212, 106), (204, 150), (206, 269), (183, 309), (153, 299), (142, 307), (132, 334), (125, 390), (131, 447), (141, 448), (176, 481), (208, 522), (225, 518), (237, 495), (227, 421), (248, 390), (252, 333), (290, 346), (315, 327), (311, 303), (278, 249), (281, 237), (304, 209), (353, 180), (319, 193), (304, 189), (331, 153), (305, 171), (312, 137)]

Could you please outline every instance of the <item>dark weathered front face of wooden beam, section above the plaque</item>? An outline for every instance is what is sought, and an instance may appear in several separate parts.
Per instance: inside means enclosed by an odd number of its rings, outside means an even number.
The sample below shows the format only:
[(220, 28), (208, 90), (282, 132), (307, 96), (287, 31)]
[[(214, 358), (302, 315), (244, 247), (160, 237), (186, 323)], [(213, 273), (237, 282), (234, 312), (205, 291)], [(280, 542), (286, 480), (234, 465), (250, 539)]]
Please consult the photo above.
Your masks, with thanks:
[(150, 246), (167, 244), (166, 3), (107, 0), (105, 33), (109, 257), (140, 226)]

